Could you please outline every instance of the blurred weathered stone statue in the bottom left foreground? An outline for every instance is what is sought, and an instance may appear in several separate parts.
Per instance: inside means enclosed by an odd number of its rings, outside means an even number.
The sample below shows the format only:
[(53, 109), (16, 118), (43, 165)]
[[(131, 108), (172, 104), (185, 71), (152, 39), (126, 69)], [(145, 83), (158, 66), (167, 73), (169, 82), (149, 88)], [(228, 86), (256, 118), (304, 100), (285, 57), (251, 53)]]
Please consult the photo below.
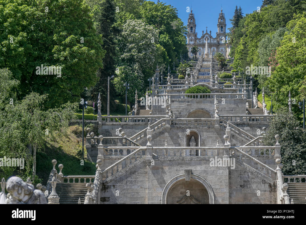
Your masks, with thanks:
[(6, 182), (6, 204), (47, 204), (46, 197), (34, 185), (24, 182), (19, 177), (11, 177)]

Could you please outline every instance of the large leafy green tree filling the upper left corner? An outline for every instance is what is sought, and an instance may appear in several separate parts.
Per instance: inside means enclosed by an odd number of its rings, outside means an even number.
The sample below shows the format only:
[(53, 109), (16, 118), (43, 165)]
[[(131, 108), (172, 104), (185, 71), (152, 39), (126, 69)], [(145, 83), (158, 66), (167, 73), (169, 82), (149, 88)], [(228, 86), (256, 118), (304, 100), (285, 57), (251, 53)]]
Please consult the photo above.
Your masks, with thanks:
[[(20, 81), (20, 99), (32, 91), (49, 94), (50, 108), (95, 85), (105, 51), (84, 2), (1, 0), (0, 6), (0, 68)], [(42, 64), (62, 66), (61, 77), (36, 74)]]

